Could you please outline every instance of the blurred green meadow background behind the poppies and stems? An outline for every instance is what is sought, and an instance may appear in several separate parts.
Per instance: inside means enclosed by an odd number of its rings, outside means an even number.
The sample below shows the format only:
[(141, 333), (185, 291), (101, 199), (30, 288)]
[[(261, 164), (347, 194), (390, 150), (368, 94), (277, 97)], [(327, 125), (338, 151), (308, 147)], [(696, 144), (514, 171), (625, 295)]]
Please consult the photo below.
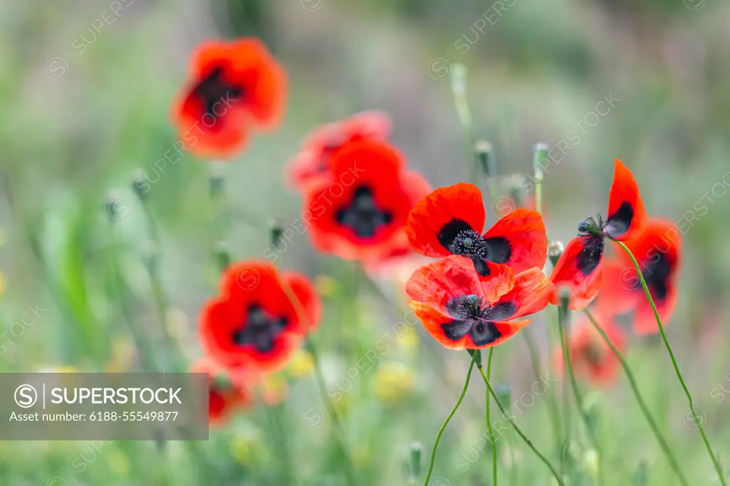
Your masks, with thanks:
[[(301, 199), (283, 171), (321, 123), (383, 109), (410, 166), (434, 186), (466, 180), (471, 155), (450, 90), (453, 66), (463, 63), (475, 131), (493, 144), (501, 177), (529, 174), (536, 142), (566, 147), (545, 176), (550, 239), (566, 241), (578, 220), (605, 212), (616, 157), (634, 171), (650, 214), (677, 221), (681, 297), (667, 333), (712, 443), (727, 458), (729, 20), (730, 4), (720, 0), (1, 0), (0, 370), (139, 371), (130, 328), (162, 339), (160, 320), (185, 360), (199, 355), (195, 326), (215, 294), (216, 245), (224, 239), (235, 258), (262, 258), (266, 220), (299, 216)], [(256, 136), (225, 167), (233, 211), (221, 218), (207, 162), (188, 155), (164, 169), (155, 163), (176, 139), (169, 112), (191, 50), (237, 36), (264, 39), (288, 71), (290, 99), (280, 130)], [(130, 189), (137, 169), (155, 181), (145, 207)], [(113, 231), (107, 201), (123, 215)], [(145, 271), (150, 263), (161, 285)], [(463, 383), (466, 353), (437, 349), (410, 325), (415, 332), (353, 378), (348, 372), (364, 353), (407, 317), (373, 292), (353, 298), (353, 266), (315, 253), (307, 235), (295, 236), (277, 263), (319, 276), (326, 318), (315, 341), (328, 386), (347, 391), (337, 409), (360, 485), (406, 484), (410, 443), (429, 454)], [(385, 286), (402, 301), (399, 290)], [(37, 309), (34, 323), (9, 333), (28, 309)], [(542, 316), (531, 327), (545, 365)], [(691, 483), (715, 485), (664, 348), (633, 339), (629, 358)], [(496, 360), (518, 423), (555, 458), (545, 397), (523, 394), (535, 383), (523, 340), (499, 347)], [(280, 485), (283, 456), (297, 485), (344, 484), (331, 420), (312, 419), (323, 409), (315, 380), (290, 378), (277, 408), (283, 424), (272, 425), (272, 409), (260, 406), (194, 450), (172, 442), (4, 442), (0, 484)], [(677, 484), (625, 381), (589, 400), (602, 423), (608, 484), (631, 484), (642, 460), (646, 484)], [(434, 486), (491, 484), (483, 393), (473, 379), (439, 447)], [(506, 433), (498, 441), (502, 484), (553, 484), (514, 440)], [(586, 444), (577, 436), (572, 454), (588, 474)], [(72, 466), (80, 454), (84, 471)], [(585, 474), (575, 484), (593, 484)]]

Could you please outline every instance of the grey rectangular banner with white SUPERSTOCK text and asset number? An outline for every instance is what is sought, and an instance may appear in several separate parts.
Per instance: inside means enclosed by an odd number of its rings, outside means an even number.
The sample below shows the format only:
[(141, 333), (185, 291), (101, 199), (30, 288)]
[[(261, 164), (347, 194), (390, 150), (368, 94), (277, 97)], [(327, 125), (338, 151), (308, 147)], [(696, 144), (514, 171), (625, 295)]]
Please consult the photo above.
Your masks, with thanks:
[(208, 440), (202, 373), (3, 373), (0, 440)]

